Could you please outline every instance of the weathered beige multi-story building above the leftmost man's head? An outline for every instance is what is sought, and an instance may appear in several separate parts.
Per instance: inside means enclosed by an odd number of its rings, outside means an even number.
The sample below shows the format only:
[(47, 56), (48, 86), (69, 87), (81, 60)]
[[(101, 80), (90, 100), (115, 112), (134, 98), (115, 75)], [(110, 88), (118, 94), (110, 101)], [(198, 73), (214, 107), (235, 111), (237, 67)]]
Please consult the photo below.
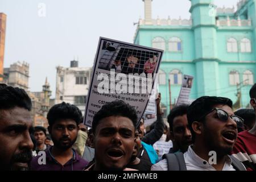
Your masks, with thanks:
[(29, 78), (30, 65), (26, 62), (11, 64), (10, 68), (4, 69), (4, 80), (7, 85), (19, 87), (28, 91), (28, 78)]

